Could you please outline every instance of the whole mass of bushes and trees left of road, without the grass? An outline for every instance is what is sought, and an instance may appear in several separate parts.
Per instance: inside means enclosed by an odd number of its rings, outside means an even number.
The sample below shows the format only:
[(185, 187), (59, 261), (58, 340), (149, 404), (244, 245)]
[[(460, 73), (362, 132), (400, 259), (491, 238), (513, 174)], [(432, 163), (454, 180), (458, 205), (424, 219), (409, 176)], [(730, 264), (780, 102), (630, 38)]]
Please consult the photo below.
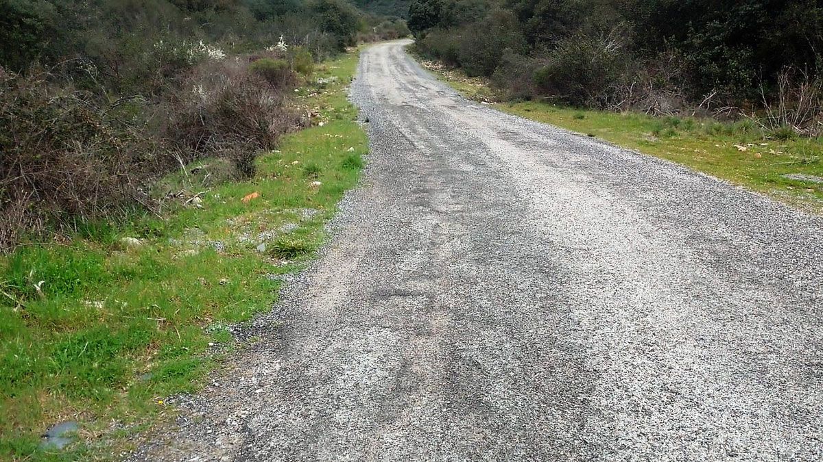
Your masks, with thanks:
[(0, 0), (0, 250), (156, 215), (198, 159), (248, 178), (314, 62), (406, 34), (343, 0)]

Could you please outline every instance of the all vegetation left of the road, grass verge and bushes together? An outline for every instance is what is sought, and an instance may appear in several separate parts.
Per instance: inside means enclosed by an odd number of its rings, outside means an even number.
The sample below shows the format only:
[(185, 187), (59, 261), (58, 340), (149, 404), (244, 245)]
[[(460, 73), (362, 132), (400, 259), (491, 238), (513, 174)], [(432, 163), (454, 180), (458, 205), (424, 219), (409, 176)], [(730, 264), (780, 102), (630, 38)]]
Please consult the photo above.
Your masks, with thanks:
[(356, 183), (355, 45), (408, 33), (342, 0), (0, 0), (0, 460), (174, 418)]

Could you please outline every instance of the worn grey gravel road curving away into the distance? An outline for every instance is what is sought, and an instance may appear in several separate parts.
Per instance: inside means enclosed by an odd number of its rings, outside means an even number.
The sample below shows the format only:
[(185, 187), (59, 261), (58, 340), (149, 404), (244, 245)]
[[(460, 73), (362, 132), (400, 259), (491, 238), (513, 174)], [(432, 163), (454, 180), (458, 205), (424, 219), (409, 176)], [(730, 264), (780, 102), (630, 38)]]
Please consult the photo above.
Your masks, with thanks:
[(362, 53), (372, 155), (134, 460), (821, 460), (823, 219)]

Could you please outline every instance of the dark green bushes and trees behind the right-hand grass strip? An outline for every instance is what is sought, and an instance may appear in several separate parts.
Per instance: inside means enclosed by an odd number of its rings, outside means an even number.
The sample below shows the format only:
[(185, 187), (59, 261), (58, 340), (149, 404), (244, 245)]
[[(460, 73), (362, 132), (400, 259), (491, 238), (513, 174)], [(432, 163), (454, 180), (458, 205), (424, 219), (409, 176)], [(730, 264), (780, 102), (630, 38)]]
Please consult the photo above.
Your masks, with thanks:
[[(510, 97), (599, 108), (805, 113), (823, 75), (823, 7), (810, 0), (413, 0), (409, 27), (422, 53)], [(815, 118), (796, 130), (819, 131)]]

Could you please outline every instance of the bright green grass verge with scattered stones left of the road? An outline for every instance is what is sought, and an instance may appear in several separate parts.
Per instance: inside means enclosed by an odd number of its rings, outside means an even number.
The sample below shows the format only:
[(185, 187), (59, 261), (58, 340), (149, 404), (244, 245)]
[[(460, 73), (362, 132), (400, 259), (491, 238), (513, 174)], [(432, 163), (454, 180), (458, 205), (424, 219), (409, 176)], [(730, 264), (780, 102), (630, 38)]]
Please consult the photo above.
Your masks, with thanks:
[[(296, 95), (319, 118), (259, 157), (255, 178), (210, 184), (181, 172), (158, 186), (204, 191), (202, 208), (87, 224), (68, 242), (0, 256), (0, 460), (117, 459), (146, 427), (174, 417), (166, 397), (198, 390), (237, 348), (227, 326), (272, 306), (277, 275), (312, 258), (357, 182), (367, 139), (347, 100), (356, 62), (349, 53), (317, 67), (312, 82), (327, 82)], [(241, 200), (252, 192), (260, 196)], [(38, 449), (63, 420), (80, 423), (78, 441)]]

